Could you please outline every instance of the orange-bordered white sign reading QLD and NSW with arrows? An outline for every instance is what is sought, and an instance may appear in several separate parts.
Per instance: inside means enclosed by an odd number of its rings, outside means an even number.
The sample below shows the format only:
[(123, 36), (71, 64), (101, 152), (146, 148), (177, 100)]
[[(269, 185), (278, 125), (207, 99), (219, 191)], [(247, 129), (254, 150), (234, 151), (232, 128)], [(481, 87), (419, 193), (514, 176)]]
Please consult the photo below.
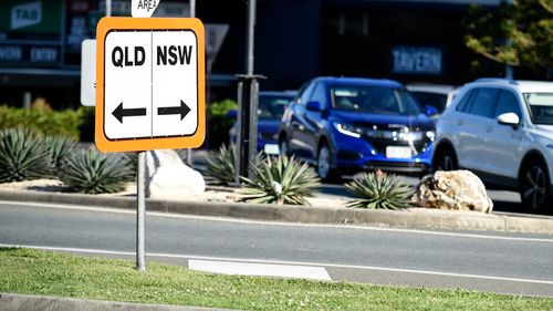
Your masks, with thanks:
[(199, 147), (206, 133), (201, 21), (103, 18), (96, 33), (97, 148)]

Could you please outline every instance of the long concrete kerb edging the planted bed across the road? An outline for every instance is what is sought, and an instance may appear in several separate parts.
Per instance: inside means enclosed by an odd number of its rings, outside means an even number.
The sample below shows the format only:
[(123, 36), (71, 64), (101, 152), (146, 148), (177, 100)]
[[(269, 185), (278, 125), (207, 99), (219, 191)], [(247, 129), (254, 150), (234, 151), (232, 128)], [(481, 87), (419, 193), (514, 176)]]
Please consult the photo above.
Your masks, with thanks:
[[(1, 200), (136, 209), (134, 197), (0, 190)], [(303, 224), (354, 224), (403, 228), (492, 230), (553, 235), (553, 219), (434, 209), (367, 210), (243, 203), (147, 200), (147, 210)]]

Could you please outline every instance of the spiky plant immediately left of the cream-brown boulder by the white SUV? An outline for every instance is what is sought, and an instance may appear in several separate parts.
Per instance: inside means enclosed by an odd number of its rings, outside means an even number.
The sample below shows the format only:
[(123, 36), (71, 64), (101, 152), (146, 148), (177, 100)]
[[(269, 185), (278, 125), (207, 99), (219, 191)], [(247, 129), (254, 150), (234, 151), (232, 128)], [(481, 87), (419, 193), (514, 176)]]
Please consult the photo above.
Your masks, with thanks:
[(413, 189), (399, 177), (382, 172), (369, 173), (345, 185), (346, 189), (356, 195), (349, 200), (348, 207), (371, 209), (401, 209), (410, 205)]

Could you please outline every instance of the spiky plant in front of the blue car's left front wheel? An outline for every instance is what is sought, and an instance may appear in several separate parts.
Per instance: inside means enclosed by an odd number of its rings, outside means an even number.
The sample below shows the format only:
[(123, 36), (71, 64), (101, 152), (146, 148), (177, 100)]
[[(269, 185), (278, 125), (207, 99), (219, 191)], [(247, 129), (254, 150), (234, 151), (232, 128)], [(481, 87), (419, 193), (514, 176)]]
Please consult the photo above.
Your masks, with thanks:
[(267, 157), (251, 169), (253, 179), (240, 177), (244, 185), (239, 191), (249, 203), (310, 205), (305, 197), (321, 185), (315, 172), (293, 156)]

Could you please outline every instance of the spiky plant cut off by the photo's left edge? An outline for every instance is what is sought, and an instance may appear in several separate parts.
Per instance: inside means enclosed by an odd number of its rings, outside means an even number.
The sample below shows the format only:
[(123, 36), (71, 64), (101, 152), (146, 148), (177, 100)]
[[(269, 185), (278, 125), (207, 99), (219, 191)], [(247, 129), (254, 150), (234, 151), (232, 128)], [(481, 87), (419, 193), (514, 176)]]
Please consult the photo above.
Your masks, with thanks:
[(0, 183), (45, 177), (52, 167), (50, 154), (34, 132), (27, 128), (0, 132)]

